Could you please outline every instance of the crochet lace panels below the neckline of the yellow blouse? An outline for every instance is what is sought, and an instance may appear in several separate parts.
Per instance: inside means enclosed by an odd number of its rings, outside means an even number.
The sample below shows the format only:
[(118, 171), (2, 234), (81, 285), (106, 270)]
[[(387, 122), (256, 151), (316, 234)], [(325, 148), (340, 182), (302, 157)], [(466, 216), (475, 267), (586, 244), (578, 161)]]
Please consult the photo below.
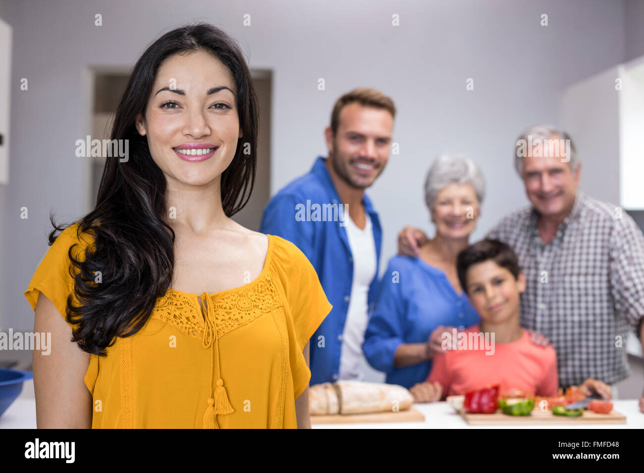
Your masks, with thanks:
[[(241, 290), (233, 291), (223, 295), (211, 294), (217, 338), (282, 305), (270, 273), (248, 288), (242, 286)], [(163, 320), (186, 335), (201, 339), (204, 336), (205, 322), (197, 297), (201, 296), (169, 288), (165, 295), (156, 300), (152, 318)]]

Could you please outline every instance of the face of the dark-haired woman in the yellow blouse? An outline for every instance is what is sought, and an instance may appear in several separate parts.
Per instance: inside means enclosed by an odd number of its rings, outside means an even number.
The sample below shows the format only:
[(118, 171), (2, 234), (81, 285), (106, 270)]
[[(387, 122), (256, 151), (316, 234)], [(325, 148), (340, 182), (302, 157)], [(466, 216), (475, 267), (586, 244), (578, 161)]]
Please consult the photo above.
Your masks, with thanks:
[(170, 188), (220, 184), (242, 136), (236, 96), (231, 71), (206, 51), (161, 64), (137, 129)]

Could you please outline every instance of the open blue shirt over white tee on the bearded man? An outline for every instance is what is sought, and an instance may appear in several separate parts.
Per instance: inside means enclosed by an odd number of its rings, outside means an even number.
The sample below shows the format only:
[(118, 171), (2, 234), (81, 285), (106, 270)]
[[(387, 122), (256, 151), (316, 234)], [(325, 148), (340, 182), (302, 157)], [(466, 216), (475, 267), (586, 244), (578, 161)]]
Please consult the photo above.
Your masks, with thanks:
[[(342, 335), (354, 277), (345, 222), (333, 221), (328, 210), (315, 212), (316, 204), (327, 205), (327, 209), (333, 204), (336, 208), (342, 205), (328, 174), (326, 160), (319, 156), (310, 172), (273, 196), (264, 209), (260, 225), (261, 233), (283, 237), (307, 255), (333, 306), (310, 339), (311, 385), (334, 382), (338, 378)], [(378, 214), (366, 194), (362, 203), (372, 221), (376, 250), (376, 271), (367, 296), (370, 314), (374, 310), (377, 293), (382, 230)]]

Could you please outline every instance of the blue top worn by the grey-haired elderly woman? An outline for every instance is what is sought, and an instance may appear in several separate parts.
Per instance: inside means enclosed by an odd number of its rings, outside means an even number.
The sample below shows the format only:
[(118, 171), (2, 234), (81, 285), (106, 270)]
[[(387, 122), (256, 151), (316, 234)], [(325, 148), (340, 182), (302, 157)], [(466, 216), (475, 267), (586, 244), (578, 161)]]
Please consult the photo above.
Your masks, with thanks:
[(480, 322), (465, 293), (457, 295), (447, 275), (420, 258), (395, 255), (383, 274), (378, 301), (365, 332), (369, 364), (386, 373), (386, 382), (412, 387), (427, 378), (431, 361), (393, 367), (403, 343), (424, 343), (435, 328), (468, 328)]

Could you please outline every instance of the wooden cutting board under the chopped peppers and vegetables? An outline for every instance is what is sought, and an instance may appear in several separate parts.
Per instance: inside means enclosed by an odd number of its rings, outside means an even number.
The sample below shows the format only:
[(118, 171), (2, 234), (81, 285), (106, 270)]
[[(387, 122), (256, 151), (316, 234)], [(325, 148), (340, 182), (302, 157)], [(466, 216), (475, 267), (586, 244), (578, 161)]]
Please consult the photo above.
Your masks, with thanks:
[(596, 414), (592, 411), (583, 411), (579, 417), (566, 417), (555, 416), (551, 411), (542, 411), (535, 409), (529, 416), (509, 416), (497, 411), (494, 414), (468, 414), (459, 411), (465, 422), (470, 425), (491, 425), (491, 424), (526, 424), (526, 423), (539, 423), (539, 424), (556, 424), (556, 423), (573, 423), (573, 424), (589, 424), (589, 423), (626, 423), (626, 416), (618, 413), (614, 409), (608, 414)]

